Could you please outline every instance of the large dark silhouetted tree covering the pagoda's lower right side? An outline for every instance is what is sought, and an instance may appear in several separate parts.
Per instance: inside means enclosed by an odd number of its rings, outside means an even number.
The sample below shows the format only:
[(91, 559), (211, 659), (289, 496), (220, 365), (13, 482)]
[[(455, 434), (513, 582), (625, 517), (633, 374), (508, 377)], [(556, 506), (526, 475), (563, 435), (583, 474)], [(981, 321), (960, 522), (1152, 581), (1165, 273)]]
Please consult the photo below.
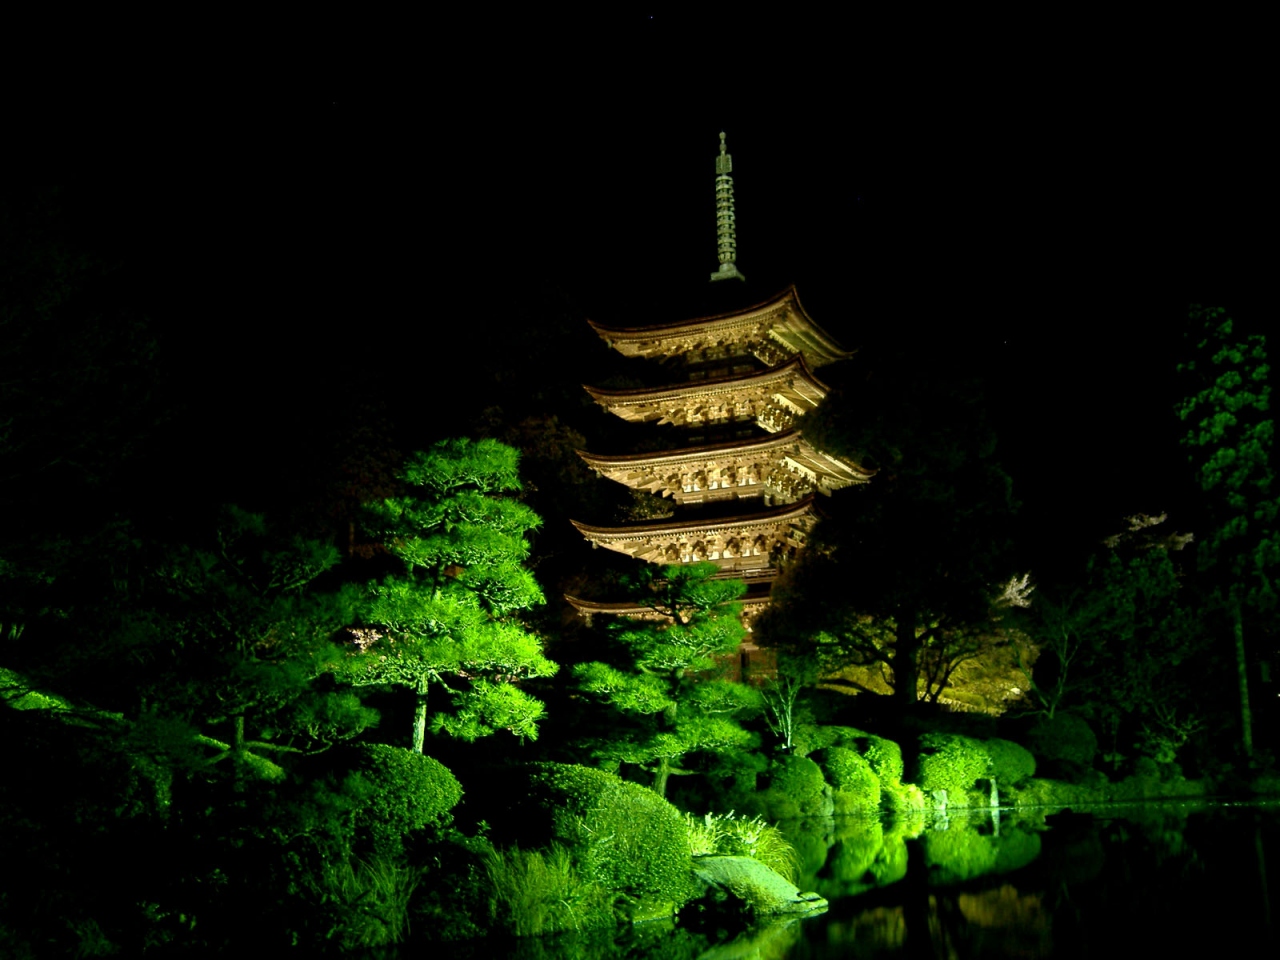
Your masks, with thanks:
[(901, 707), (936, 696), (973, 654), (1011, 570), (1011, 481), (979, 384), (954, 364), (890, 353), (852, 369), (805, 436), (878, 472), (837, 494), (783, 573), (763, 631), (829, 666), (878, 668)]

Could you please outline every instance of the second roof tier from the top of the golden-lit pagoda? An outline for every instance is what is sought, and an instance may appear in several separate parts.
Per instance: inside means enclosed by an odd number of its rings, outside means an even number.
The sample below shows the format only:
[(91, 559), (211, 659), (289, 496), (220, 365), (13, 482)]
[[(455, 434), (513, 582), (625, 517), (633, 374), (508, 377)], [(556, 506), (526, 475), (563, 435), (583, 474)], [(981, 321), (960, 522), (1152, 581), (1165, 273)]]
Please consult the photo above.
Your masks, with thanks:
[(755, 421), (769, 433), (788, 430), (797, 417), (822, 403), (828, 390), (813, 375), (804, 355), (745, 376), (630, 390), (586, 387), (596, 403), (623, 420), (677, 426)]

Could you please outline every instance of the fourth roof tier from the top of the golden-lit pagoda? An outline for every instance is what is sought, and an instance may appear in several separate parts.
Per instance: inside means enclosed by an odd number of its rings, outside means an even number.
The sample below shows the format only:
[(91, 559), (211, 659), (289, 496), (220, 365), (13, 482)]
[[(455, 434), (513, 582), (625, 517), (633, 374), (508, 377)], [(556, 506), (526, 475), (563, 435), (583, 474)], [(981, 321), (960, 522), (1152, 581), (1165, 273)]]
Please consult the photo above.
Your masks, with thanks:
[(721, 568), (718, 576), (753, 582), (776, 577), (778, 564), (808, 543), (818, 517), (810, 495), (754, 515), (613, 527), (572, 522), (593, 547), (649, 563), (709, 561)]

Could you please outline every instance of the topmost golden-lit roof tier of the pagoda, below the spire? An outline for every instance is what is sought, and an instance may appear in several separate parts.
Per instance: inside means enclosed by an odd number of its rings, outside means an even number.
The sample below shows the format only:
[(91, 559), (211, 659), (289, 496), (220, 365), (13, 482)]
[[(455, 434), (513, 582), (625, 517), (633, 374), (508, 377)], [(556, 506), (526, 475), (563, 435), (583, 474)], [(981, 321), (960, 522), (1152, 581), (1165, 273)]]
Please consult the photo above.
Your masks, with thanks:
[(658, 326), (604, 326), (594, 321), (591, 326), (625, 356), (681, 360), (687, 365), (754, 356), (765, 366), (777, 366), (800, 355), (815, 370), (854, 356), (809, 317), (795, 287), (731, 314)]

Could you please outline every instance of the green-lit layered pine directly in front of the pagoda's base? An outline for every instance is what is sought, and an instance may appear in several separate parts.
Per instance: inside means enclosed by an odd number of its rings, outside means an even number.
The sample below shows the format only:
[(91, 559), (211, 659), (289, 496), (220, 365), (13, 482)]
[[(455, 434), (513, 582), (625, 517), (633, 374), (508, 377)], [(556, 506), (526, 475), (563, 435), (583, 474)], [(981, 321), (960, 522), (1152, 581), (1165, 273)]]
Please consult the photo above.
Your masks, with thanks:
[(749, 746), (754, 737), (736, 716), (760, 705), (745, 684), (713, 676), (718, 659), (737, 652), (746, 631), (736, 600), (741, 580), (713, 580), (714, 563), (645, 567), (634, 599), (652, 621), (620, 623), (618, 662), (573, 668), (579, 686), (626, 718), (594, 742), (605, 764), (634, 763), (653, 776), (659, 796), (672, 776), (696, 773), (681, 760), (695, 751)]

